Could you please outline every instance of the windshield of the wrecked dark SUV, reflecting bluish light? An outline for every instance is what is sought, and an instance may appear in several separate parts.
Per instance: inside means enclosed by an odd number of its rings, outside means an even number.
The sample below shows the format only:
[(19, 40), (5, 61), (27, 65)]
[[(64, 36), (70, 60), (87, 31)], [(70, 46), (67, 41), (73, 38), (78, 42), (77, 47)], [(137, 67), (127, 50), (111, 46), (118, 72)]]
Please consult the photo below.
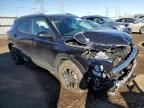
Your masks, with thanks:
[(71, 36), (83, 31), (96, 30), (100, 26), (92, 21), (75, 17), (54, 18), (52, 21), (62, 36)]

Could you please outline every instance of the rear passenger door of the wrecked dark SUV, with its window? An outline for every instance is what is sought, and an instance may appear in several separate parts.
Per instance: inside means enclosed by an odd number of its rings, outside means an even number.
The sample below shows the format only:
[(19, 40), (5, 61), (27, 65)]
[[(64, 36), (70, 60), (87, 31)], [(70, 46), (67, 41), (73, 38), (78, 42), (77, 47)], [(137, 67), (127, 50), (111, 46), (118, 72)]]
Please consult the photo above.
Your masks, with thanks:
[(32, 21), (30, 19), (22, 19), (17, 28), (15, 36), (15, 46), (23, 53), (30, 56), (32, 45)]

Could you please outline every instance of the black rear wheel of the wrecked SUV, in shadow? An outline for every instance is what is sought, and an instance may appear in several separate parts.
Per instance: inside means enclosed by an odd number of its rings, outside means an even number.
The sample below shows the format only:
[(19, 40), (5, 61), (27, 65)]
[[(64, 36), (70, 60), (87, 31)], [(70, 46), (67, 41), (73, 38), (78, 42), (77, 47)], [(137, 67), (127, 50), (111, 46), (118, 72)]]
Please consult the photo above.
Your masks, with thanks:
[(11, 54), (13, 62), (16, 65), (21, 65), (21, 64), (25, 63), (25, 61), (24, 61), (24, 59), (23, 59), (23, 57), (22, 57), (22, 55), (18, 49), (12, 47), (10, 49), (10, 54)]

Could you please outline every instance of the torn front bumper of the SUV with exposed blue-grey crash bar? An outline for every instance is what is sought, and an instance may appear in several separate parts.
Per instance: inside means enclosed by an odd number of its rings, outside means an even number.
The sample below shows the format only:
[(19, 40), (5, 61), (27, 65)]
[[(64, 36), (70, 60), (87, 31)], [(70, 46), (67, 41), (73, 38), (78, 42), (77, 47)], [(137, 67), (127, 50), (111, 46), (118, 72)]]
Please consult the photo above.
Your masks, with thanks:
[[(134, 69), (136, 67), (135, 57), (138, 53), (136, 47), (133, 47), (127, 59), (119, 66), (112, 69), (113, 77), (104, 79), (97, 77), (93, 74), (92, 88), (94, 90), (106, 89), (107, 91), (114, 92), (121, 86), (127, 84), (134, 78)], [(92, 76), (92, 75), (91, 75)]]

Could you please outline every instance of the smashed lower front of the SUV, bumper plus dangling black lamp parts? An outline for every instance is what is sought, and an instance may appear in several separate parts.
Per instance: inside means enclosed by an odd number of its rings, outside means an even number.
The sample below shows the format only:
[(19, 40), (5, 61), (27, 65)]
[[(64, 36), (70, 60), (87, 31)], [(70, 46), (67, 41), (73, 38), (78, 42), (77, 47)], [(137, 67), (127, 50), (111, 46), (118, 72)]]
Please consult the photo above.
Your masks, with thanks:
[(136, 54), (137, 48), (133, 47), (130, 53), (123, 60), (121, 59), (116, 66), (114, 62), (107, 60), (93, 62), (86, 78), (90, 87), (94, 90), (106, 89), (114, 92), (127, 84), (135, 77)]

